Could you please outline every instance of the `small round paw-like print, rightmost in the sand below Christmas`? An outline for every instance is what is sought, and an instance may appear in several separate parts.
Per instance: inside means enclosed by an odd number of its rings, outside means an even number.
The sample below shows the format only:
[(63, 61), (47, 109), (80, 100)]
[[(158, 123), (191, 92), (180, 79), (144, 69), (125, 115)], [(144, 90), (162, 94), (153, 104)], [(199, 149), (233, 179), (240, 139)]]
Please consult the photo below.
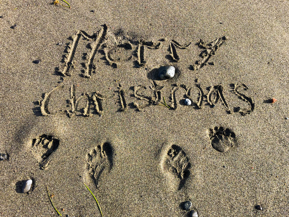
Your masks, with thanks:
[(217, 151), (226, 152), (231, 147), (234, 147), (236, 135), (229, 128), (215, 127), (214, 129), (209, 129), (208, 133), (212, 147)]

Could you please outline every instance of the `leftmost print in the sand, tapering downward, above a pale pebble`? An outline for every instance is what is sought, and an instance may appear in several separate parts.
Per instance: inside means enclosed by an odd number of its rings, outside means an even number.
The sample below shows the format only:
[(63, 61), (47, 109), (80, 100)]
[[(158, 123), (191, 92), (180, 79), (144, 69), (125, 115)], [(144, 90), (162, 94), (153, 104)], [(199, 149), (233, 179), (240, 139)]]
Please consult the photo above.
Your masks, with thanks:
[(51, 154), (59, 146), (59, 139), (46, 134), (29, 141), (28, 149), (39, 163), (40, 169), (46, 170), (51, 161)]

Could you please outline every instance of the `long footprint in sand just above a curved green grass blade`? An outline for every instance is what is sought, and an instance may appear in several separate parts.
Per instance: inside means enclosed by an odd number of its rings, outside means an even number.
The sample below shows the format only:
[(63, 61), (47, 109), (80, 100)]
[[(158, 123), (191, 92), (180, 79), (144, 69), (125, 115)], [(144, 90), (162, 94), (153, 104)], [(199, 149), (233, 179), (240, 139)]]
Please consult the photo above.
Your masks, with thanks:
[(110, 171), (113, 166), (113, 150), (110, 143), (105, 142), (92, 148), (86, 155), (86, 170), (84, 178), (86, 182), (94, 182), (99, 188), (99, 177), (103, 171)]

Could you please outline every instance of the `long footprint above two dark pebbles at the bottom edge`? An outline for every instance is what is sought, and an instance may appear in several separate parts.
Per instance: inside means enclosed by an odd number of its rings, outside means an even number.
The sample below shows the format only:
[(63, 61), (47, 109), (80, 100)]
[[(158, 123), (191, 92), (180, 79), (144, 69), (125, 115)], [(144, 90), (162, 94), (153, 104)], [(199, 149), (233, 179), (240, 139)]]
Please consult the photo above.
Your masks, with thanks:
[(172, 145), (162, 155), (161, 168), (164, 174), (169, 178), (172, 187), (177, 187), (180, 190), (188, 176), (190, 175), (189, 162), (186, 153), (177, 145)]

